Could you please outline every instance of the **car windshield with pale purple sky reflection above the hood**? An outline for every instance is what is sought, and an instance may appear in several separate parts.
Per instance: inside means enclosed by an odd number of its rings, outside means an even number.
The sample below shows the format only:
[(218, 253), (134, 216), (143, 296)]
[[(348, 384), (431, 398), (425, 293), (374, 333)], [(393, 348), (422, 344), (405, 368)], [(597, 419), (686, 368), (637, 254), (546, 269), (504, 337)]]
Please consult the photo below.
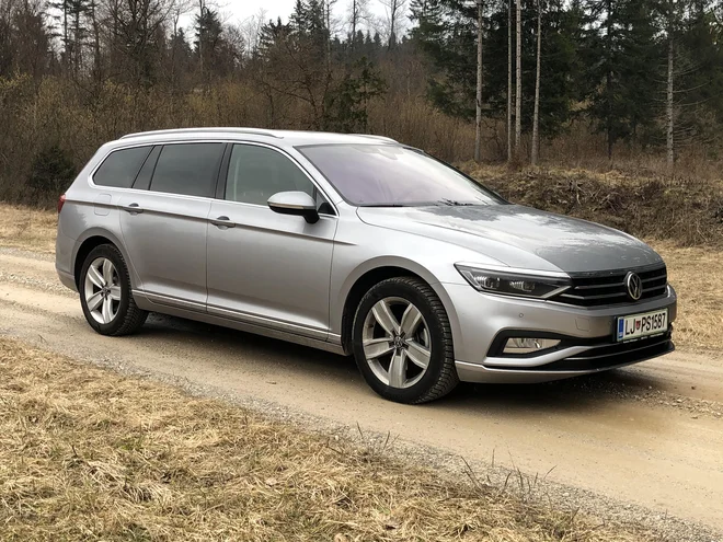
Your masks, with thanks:
[(364, 207), (496, 205), (505, 201), (454, 168), (394, 145), (298, 149), (348, 203)]

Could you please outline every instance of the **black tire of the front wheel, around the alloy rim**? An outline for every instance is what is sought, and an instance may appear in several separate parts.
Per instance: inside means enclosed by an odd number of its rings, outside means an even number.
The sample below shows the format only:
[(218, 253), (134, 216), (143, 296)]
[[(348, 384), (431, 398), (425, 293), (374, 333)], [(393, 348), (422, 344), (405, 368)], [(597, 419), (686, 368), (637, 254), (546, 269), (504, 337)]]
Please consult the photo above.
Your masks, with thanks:
[[(386, 298), (401, 298), (413, 303), (422, 313), (432, 339), (426, 372), (409, 388), (392, 388), (380, 380), (364, 354), (362, 339), (367, 314), (378, 301)], [(416, 277), (389, 278), (374, 286), (359, 302), (354, 316), (352, 338), (359, 371), (369, 387), (385, 399), (406, 404), (426, 403), (447, 395), (459, 383), (447, 312), (429, 285)]]

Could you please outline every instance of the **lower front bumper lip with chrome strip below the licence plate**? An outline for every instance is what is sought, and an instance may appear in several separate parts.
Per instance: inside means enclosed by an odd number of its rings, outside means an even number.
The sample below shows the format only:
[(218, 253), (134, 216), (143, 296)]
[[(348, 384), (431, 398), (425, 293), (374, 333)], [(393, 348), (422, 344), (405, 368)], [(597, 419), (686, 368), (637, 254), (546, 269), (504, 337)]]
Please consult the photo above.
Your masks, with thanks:
[(675, 350), (672, 330), (664, 335), (630, 343), (581, 342), (559, 353), (569, 357), (533, 367), (492, 367), (457, 361), (457, 373), (463, 382), (535, 383), (592, 374), (664, 356)]

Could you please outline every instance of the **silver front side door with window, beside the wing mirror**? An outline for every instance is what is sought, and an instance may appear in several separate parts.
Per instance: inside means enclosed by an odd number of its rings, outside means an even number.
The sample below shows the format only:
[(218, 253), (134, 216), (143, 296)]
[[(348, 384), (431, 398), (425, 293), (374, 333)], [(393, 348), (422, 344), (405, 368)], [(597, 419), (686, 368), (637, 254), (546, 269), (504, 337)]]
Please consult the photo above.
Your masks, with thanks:
[[(208, 312), (324, 339), (336, 217), (287, 154), (234, 145), (208, 223)], [(223, 174), (222, 174), (223, 175)], [(279, 192), (317, 198), (320, 220), (272, 211)]]

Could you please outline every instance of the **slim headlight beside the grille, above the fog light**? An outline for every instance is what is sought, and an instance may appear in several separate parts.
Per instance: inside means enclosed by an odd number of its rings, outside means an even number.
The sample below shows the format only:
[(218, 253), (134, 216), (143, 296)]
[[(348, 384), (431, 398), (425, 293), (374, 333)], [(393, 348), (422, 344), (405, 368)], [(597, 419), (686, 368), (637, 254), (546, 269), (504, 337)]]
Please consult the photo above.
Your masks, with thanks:
[(455, 267), (474, 289), (487, 293), (548, 299), (572, 286), (570, 278), (563, 274), (541, 276), (535, 275), (535, 272), (527, 274), (520, 269), (483, 269), (462, 264), (457, 264)]

